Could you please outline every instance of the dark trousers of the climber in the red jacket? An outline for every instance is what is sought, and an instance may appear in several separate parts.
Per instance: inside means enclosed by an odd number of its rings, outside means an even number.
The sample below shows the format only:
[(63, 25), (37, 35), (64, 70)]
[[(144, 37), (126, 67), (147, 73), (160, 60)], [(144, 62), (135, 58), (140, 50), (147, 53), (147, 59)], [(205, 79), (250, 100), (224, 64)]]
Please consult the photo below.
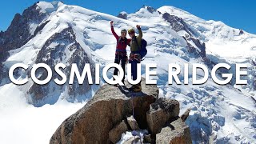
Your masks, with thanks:
[[(126, 60), (127, 60), (126, 55), (115, 54), (114, 63), (119, 65), (120, 62), (121, 62), (122, 70), (124, 72), (124, 75), (123, 75), (123, 78), (122, 78), (123, 83), (125, 82), (125, 75), (126, 75)], [(114, 68), (114, 75), (118, 75), (118, 69), (117, 68)]]

